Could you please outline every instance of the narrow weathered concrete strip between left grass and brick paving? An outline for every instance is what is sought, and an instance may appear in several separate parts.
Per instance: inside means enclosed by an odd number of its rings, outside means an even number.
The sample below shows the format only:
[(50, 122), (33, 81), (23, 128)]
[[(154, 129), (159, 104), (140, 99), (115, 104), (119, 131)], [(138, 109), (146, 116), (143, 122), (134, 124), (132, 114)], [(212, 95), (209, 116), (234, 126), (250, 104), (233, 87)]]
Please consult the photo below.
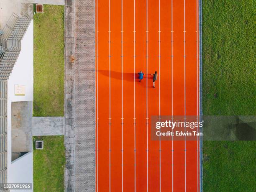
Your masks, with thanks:
[[(65, 0), (65, 192), (74, 192), (74, 0)], [(82, 190), (82, 189), (81, 189)]]

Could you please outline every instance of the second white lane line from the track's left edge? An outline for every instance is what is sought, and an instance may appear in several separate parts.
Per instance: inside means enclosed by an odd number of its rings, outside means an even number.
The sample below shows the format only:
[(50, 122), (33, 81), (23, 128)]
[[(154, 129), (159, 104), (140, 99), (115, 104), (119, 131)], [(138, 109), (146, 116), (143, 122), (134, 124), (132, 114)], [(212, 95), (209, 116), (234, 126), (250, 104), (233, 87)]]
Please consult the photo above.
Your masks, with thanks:
[(108, 49), (109, 49), (109, 192), (111, 191), (111, 169), (110, 169), (110, 164), (111, 164), (111, 158), (110, 158), (110, 153), (111, 153), (111, 143), (110, 143), (110, 136), (111, 136), (111, 92), (110, 92), (110, 0), (108, 1), (108, 14), (109, 14), (109, 26), (108, 26)]

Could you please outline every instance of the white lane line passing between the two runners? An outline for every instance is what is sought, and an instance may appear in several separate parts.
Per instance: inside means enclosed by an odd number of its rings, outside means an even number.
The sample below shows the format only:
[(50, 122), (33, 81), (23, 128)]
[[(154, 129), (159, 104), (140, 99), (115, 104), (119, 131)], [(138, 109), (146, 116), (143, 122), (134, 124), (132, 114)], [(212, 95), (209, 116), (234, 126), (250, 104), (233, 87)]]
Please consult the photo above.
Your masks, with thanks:
[(146, 67), (146, 70), (147, 70), (147, 74), (146, 74), (146, 85), (147, 85), (147, 88), (146, 88), (146, 109), (147, 109), (147, 192), (148, 192), (148, 0), (146, 1), (146, 37), (147, 37), (147, 42), (146, 42), (146, 64), (147, 64), (147, 67)]

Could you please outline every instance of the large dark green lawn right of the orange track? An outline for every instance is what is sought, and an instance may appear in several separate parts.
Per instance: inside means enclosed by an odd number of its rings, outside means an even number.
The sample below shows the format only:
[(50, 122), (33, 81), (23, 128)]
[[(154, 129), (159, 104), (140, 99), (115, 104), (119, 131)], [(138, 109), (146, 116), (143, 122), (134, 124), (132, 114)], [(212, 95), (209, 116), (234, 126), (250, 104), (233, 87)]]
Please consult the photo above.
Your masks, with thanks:
[[(202, 0), (203, 114), (255, 115), (255, 2)], [(255, 141), (204, 141), (204, 191), (255, 191)]]

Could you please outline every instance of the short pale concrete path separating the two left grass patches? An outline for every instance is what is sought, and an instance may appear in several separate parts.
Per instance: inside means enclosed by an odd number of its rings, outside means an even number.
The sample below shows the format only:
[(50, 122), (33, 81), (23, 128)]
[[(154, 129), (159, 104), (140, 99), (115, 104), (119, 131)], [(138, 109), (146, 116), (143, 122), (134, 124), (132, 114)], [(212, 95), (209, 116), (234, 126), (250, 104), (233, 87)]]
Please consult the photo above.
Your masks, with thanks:
[(64, 135), (64, 117), (33, 117), (33, 136)]

